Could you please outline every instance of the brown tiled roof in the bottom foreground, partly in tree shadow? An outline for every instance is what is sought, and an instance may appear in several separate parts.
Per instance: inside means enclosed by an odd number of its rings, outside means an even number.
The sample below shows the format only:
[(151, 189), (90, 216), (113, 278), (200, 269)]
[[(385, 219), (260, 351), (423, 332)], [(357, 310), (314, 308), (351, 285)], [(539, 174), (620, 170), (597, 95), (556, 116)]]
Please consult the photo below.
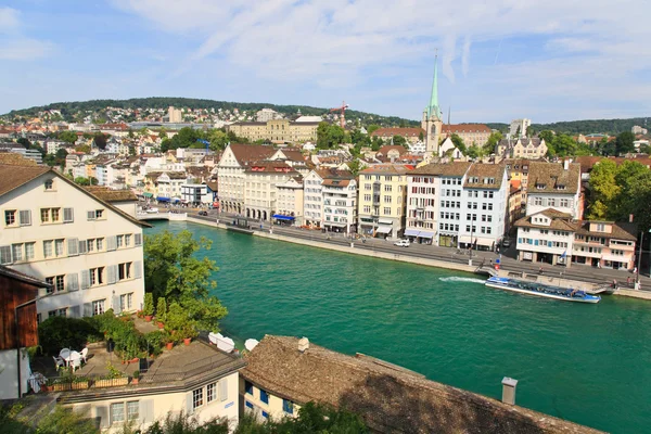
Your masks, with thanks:
[(518, 406), (426, 380), (398, 366), (347, 356), (298, 339), (266, 335), (240, 374), (297, 404), (328, 403), (391, 433), (597, 433)]

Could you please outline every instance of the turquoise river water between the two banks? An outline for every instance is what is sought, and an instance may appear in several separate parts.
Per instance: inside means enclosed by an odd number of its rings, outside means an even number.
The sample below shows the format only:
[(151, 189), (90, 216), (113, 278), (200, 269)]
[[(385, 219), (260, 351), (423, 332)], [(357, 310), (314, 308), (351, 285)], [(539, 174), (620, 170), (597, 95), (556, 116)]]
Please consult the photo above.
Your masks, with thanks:
[(417, 265), (270, 241), (186, 222), (214, 241), (225, 334), (307, 336), (429, 379), (613, 433), (651, 432), (651, 303), (597, 305), (487, 289), (483, 280)]

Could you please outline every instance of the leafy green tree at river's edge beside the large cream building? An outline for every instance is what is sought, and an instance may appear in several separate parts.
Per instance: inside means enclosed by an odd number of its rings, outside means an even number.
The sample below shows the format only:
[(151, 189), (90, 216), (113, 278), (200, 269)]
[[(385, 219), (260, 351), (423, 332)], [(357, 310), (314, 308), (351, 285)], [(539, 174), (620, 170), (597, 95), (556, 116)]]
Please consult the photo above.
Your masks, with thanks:
[(228, 312), (210, 295), (217, 286), (212, 273), (218, 268), (206, 256), (197, 257), (210, 245), (208, 239), (195, 240), (187, 230), (176, 235), (165, 231), (145, 237), (144, 278), (145, 290), (156, 299), (164, 296), (169, 304), (178, 303), (201, 330), (218, 331), (219, 320)]

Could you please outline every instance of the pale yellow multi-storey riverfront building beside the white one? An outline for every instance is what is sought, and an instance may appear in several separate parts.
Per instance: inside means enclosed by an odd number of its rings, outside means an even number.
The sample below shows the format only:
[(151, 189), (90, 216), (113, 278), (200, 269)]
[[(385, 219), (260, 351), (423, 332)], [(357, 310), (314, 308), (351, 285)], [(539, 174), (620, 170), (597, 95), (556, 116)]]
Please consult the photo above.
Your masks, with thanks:
[(359, 173), (360, 234), (392, 239), (403, 235), (409, 168), (380, 164)]

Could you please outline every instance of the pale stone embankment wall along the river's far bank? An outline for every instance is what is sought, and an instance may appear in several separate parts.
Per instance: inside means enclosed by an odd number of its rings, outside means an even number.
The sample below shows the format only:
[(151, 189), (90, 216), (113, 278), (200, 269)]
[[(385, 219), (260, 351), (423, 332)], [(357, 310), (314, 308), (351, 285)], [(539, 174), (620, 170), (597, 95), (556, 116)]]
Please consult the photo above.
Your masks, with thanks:
[[(224, 229), (224, 230), (228, 230), (230, 228), (228, 225), (225, 225), (225, 224), (220, 224), (220, 222), (216, 222), (216, 221), (208, 221), (208, 220), (204, 220), (204, 219), (200, 219), (200, 218), (194, 218), (192, 216), (188, 216), (187, 220), (190, 222), (193, 222), (193, 224), (209, 226), (209, 227)], [(253, 231), (252, 234), (254, 237), (260, 237), (260, 238), (265, 238), (268, 240), (307, 245), (310, 247), (326, 248), (326, 250), (346, 253), (346, 254), (361, 255), (361, 256), (368, 256), (368, 257), (373, 257), (373, 258), (379, 258), (379, 259), (397, 260), (397, 261), (401, 261), (401, 263), (422, 265), (422, 266), (426, 266), (426, 267), (444, 268), (447, 270), (463, 271), (463, 272), (470, 272), (470, 273), (475, 273), (481, 264), (481, 261), (474, 260), (473, 265), (467, 265), (467, 264), (464, 265), (464, 264), (457, 264), (454, 261), (438, 260), (438, 259), (418, 257), (418, 256), (412, 256), (412, 255), (403, 255), (399, 253), (383, 252), (383, 251), (379, 251), (379, 250), (356, 248), (355, 245), (360, 243), (359, 241), (354, 241), (352, 243), (346, 242), (344, 244), (332, 244), (332, 243), (322, 242), (322, 241), (319, 241), (316, 239), (301, 239), (301, 238), (279, 234), (279, 233), (275, 233), (273, 231), (266, 231), (266, 230), (265, 231), (256, 230), (256, 231)], [(500, 269), (499, 271), (497, 271), (497, 275), (500, 277), (514, 277), (514, 273), (512, 273), (509, 269)], [(549, 280), (549, 281), (547, 281), (547, 280)], [(573, 288), (573, 289), (577, 289), (577, 290), (582, 290), (582, 291), (590, 291), (597, 286), (597, 284), (591, 283), (591, 282), (586, 282), (586, 281), (575, 280), (575, 279), (566, 279), (566, 278), (563, 278), (562, 276), (554, 277), (554, 276), (546, 275), (546, 276), (539, 278), (538, 281), (540, 281), (541, 283), (553, 284), (553, 285), (563, 286), (563, 288)], [(613, 295), (651, 301), (651, 293), (647, 293), (647, 292), (642, 292), (642, 291), (620, 289)]]

